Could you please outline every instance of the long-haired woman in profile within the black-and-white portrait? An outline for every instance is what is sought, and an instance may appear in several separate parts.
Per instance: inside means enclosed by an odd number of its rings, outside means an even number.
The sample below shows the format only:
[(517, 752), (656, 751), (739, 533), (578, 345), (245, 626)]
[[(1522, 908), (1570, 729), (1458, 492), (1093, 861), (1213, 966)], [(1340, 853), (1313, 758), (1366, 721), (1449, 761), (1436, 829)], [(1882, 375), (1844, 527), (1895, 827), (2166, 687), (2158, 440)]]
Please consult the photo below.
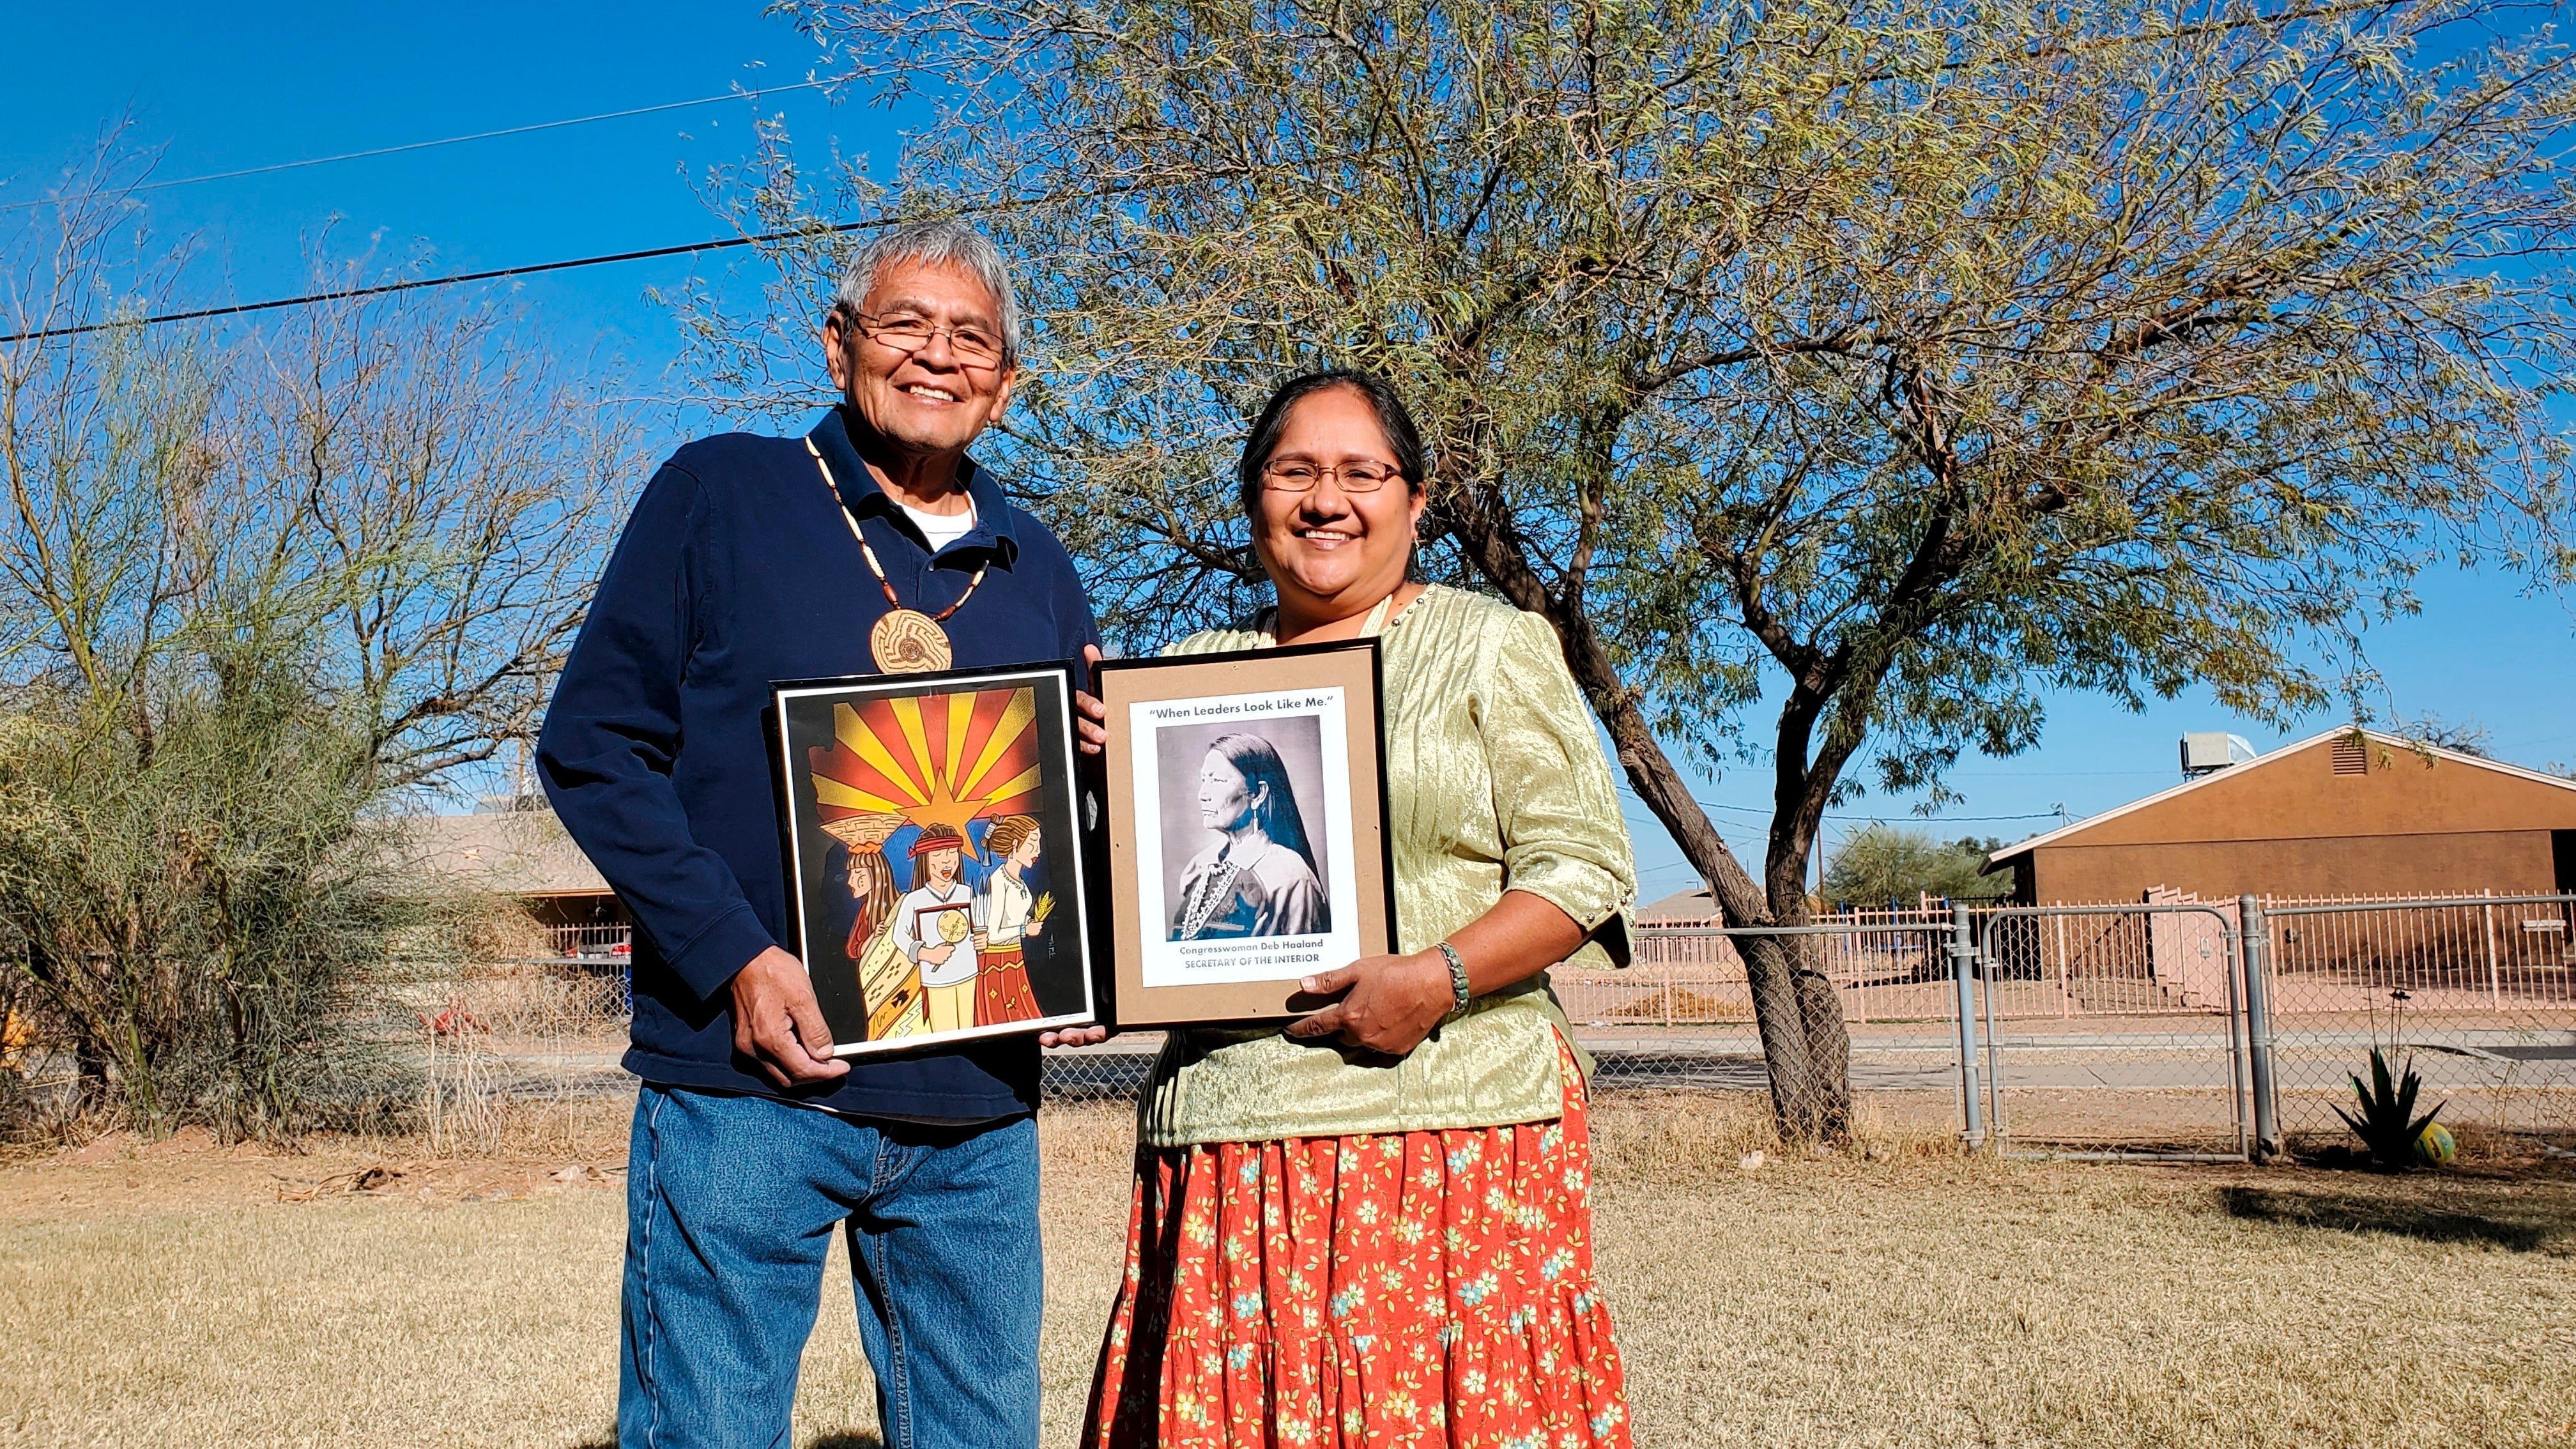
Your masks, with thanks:
[(1180, 874), (1172, 941), (1332, 931), (1306, 820), (1270, 740), (1221, 735), (1208, 745), (1198, 766), (1198, 822), (1226, 838)]

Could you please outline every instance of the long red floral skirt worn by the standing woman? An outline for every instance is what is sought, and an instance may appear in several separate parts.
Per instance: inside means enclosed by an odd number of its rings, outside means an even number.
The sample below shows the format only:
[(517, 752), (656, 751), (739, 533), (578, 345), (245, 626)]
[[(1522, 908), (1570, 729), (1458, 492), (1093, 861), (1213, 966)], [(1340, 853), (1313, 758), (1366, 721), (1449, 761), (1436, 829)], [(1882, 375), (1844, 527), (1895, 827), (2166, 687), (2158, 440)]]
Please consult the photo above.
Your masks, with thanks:
[(1090, 1449), (1625, 1449), (1592, 1140), (1522, 1127), (1141, 1150)]

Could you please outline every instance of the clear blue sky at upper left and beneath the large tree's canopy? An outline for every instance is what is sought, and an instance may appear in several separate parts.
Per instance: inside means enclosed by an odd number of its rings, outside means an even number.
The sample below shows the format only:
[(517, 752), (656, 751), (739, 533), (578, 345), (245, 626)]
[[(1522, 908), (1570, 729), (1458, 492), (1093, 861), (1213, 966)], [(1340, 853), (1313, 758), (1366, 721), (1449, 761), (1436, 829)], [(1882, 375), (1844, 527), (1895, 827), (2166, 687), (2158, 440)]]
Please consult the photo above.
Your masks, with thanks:
[[(118, 116), (162, 147), (157, 178), (392, 147), (603, 111), (804, 80), (809, 44), (757, 5), (10, 5), (0, 54), (0, 206), (44, 191), (57, 168)], [(886, 111), (770, 95), (799, 150), (824, 144), (891, 160)], [(386, 255), (422, 245), (440, 268), (492, 268), (703, 240), (721, 232), (690, 173), (750, 147), (742, 103), (665, 111), (428, 152), (317, 165), (152, 193), (155, 227), (196, 237), (206, 291), (232, 299), (301, 291), (304, 248), (335, 224), (335, 248), (379, 237)], [(0, 224), (10, 214), (0, 211)], [(675, 333), (647, 286), (685, 260), (531, 278), (520, 297), (562, 353), (618, 356), (652, 376)], [(2576, 763), (2576, 639), (2561, 598), (2522, 598), (2509, 578), (2424, 580), (2424, 614), (2372, 629), (2372, 660), (2403, 714), (2476, 719), (2496, 755)], [(2236, 719), (2205, 696), (2128, 714), (2092, 696), (2048, 704), (2043, 745), (2014, 761), (1963, 761), (1965, 794), (1932, 822), (1942, 835), (2020, 838), (2179, 779), (2184, 730), (2233, 730), (2269, 750), (2331, 727)], [(1700, 781), (1728, 843), (1759, 866), (1767, 779), (1739, 768)], [(1906, 802), (1862, 799), (1826, 828), (1911, 820)], [(1631, 804), (1643, 895), (1695, 884), (1680, 851)]]

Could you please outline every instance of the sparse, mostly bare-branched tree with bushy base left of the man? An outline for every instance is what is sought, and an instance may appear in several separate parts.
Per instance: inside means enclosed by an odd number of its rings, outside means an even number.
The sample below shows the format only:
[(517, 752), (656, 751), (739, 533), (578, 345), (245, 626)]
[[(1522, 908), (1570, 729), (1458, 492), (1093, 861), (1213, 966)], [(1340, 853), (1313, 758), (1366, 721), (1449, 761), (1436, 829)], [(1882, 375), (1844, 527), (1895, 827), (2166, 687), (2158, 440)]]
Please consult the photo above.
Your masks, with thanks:
[(471, 304), (116, 325), (178, 289), (131, 175), (0, 235), (0, 1003), (82, 1109), (286, 1137), (453, 915), (404, 807), (533, 732), (636, 459)]

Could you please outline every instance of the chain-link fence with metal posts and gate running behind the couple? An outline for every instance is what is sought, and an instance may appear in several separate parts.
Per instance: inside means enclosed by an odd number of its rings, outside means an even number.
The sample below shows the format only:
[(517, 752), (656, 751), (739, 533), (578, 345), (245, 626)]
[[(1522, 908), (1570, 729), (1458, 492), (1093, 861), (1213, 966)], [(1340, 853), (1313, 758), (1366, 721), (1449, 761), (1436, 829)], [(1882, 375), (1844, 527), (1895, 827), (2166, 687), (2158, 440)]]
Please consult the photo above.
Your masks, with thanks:
[[(2576, 1137), (2576, 897), (1875, 910), (1803, 928), (1662, 923), (1636, 964), (1553, 972), (1592, 1085), (1765, 1093), (1747, 936), (1795, 938), (1842, 1000), (1878, 1124), (2025, 1150), (2241, 1155), (2342, 1134), (2393, 1049), (2445, 1119)], [(546, 975), (626, 1011), (626, 928), (562, 928)], [(536, 962), (531, 962), (536, 964)], [(2246, 967), (2254, 967), (2254, 977)], [(1159, 1034), (1048, 1052), (1046, 1098), (1131, 1104)]]

